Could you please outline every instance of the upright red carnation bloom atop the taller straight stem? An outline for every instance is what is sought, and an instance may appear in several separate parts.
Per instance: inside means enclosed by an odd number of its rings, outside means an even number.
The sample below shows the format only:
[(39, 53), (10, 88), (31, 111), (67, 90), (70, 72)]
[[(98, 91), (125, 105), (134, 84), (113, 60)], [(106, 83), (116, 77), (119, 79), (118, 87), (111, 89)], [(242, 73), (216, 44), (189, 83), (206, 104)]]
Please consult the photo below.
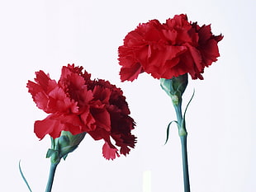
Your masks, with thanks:
[(204, 68), (220, 56), (217, 43), (222, 35), (212, 35), (211, 26), (198, 26), (177, 15), (160, 24), (151, 20), (126, 35), (119, 47), (121, 81), (133, 81), (140, 73), (154, 78), (178, 77), (189, 73), (203, 79)]

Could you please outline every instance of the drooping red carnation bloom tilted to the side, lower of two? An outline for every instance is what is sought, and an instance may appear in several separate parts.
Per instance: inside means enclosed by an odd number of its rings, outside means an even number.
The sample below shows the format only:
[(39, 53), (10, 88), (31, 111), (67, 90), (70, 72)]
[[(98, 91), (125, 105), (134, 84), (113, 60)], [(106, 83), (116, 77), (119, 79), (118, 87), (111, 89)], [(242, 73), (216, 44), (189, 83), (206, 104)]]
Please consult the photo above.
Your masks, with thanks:
[(72, 134), (89, 133), (95, 140), (104, 139), (103, 156), (107, 159), (126, 155), (135, 147), (135, 136), (130, 133), (135, 122), (121, 89), (104, 80), (90, 79), (83, 67), (68, 65), (62, 68), (59, 82), (43, 71), (36, 73), (36, 82), (27, 87), (36, 105), (50, 114), (35, 122), (35, 133), (40, 139), (46, 134), (59, 138), (61, 131)]

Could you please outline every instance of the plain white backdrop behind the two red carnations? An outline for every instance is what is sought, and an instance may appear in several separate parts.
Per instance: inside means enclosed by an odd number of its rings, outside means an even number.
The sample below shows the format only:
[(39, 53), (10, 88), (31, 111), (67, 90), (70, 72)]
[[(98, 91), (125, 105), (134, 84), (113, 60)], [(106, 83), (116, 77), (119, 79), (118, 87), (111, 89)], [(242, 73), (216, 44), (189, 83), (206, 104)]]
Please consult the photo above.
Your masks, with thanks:
[(142, 74), (135, 82), (120, 82), (117, 49), (140, 22), (164, 22), (187, 13), (189, 21), (210, 24), (222, 33), (220, 58), (206, 68), (205, 80), (192, 81), (187, 110), (189, 169), (192, 192), (254, 192), (255, 156), (255, 8), (254, 0), (10, 0), (0, 2), (1, 191), (45, 190), (50, 138), (33, 133), (36, 108), (26, 82), (44, 70), (59, 79), (67, 63), (82, 65), (92, 77), (121, 87), (137, 126), (138, 143), (127, 157), (107, 161), (102, 141), (86, 136), (61, 162), (53, 192), (142, 192), (144, 171), (151, 171), (152, 192), (183, 191), (181, 152), (173, 125), (164, 146), (166, 126), (175, 119), (159, 81)]

